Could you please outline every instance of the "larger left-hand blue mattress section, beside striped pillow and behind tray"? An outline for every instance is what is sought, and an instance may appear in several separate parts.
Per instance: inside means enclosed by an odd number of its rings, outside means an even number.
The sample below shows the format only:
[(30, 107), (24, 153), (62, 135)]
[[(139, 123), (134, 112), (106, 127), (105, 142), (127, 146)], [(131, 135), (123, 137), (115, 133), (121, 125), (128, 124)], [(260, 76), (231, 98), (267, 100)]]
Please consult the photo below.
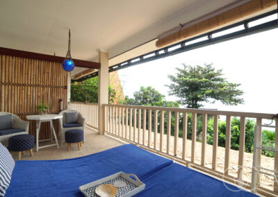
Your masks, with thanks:
[(17, 161), (6, 196), (83, 196), (79, 186), (124, 171), (145, 179), (172, 164), (132, 144), (70, 160)]

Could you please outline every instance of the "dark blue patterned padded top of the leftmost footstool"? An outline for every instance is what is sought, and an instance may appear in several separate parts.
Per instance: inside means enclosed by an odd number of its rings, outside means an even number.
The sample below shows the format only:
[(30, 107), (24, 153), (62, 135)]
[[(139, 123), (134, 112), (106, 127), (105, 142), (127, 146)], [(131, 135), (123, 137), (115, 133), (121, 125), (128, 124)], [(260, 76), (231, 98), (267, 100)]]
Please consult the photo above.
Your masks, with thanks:
[(27, 151), (35, 145), (35, 137), (33, 135), (22, 134), (15, 135), (8, 139), (9, 151)]

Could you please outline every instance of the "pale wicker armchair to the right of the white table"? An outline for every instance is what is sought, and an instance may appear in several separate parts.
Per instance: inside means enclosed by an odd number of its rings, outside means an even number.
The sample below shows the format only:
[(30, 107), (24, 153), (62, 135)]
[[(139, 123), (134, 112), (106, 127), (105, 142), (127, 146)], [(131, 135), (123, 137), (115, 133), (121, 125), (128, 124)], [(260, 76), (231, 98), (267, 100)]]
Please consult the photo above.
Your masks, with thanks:
[[(60, 144), (61, 146), (65, 142), (65, 132), (67, 130), (72, 129), (81, 129), (84, 131), (85, 128), (85, 118), (83, 118), (82, 114), (78, 112), (78, 122), (77, 123), (65, 123), (65, 112), (77, 112), (76, 110), (63, 110), (59, 114), (63, 115), (63, 119), (59, 119), (59, 127), (60, 127)], [(84, 135), (85, 141), (85, 135)]]

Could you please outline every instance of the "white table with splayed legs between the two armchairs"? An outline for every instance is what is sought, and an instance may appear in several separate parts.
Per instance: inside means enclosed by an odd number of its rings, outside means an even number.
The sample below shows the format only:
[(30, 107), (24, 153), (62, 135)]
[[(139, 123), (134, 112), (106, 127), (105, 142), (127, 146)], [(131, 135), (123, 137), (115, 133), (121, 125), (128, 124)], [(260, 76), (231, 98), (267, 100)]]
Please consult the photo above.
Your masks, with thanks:
[[(59, 144), (58, 144), (58, 140), (57, 140), (57, 137), (56, 137), (56, 132), (55, 132), (52, 120), (62, 119), (62, 118), (63, 118), (63, 115), (59, 115), (59, 114), (26, 116), (27, 120), (30, 120), (30, 121), (33, 120), (36, 123), (36, 145), (37, 145), (36, 148), (37, 148), (37, 152), (39, 151), (40, 148), (47, 148), (49, 146), (56, 146), (57, 145), (57, 148), (59, 148)], [(53, 140), (53, 137), (52, 137), (52, 133), (53, 133), (56, 144), (49, 144), (49, 145), (46, 145), (46, 146), (39, 146), (40, 123), (42, 123), (42, 122), (49, 122), (50, 123), (50, 133), (51, 133), (51, 139), (50, 140), (51, 141)], [(46, 141), (46, 140), (44, 139), (43, 141)], [(42, 140), (40, 142), (42, 142)]]

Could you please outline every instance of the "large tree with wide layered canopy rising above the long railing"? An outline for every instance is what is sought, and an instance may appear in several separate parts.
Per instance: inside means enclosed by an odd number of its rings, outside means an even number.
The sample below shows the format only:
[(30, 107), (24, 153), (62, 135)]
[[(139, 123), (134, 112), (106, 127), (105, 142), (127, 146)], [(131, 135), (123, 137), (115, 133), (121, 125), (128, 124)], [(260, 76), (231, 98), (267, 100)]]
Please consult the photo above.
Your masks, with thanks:
[(201, 108), (202, 103), (214, 103), (221, 101), (225, 105), (238, 105), (244, 103), (239, 96), (243, 91), (238, 89), (240, 84), (229, 83), (223, 78), (222, 69), (215, 70), (210, 65), (193, 67), (183, 64), (183, 68), (177, 68), (176, 76), (169, 75), (172, 80), (169, 94), (179, 97), (181, 105), (187, 108)]

